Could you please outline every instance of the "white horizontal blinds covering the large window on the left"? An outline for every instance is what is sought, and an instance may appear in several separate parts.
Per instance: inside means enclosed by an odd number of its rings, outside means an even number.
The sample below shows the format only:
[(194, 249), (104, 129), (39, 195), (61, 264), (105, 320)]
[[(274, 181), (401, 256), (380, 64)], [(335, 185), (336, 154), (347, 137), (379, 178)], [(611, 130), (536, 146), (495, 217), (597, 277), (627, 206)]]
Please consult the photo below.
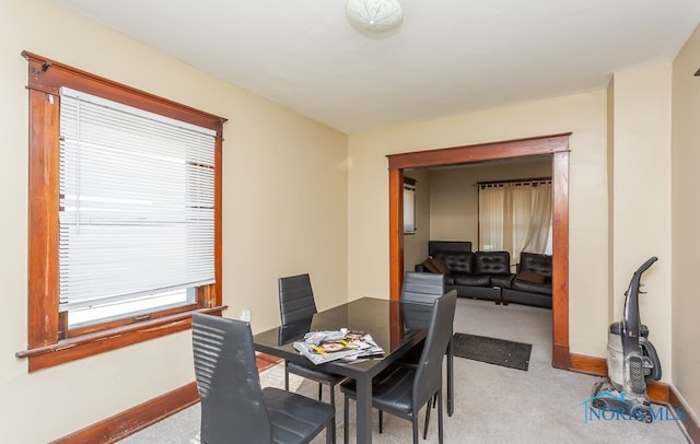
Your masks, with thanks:
[(215, 132), (61, 89), (60, 309), (214, 282)]

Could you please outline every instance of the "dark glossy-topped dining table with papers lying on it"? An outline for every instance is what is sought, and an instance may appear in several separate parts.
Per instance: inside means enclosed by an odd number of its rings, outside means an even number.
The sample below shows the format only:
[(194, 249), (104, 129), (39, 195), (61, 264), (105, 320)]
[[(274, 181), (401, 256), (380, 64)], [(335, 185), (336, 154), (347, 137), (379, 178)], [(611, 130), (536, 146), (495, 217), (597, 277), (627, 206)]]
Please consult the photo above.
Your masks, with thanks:
[(347, 328), (372, 336), (384, 350), (383, 354), (317, 365), (319, 370), (355, 381), (357, 442), (365, 444), (372, 442), (372, 378), (425, 338), (425, 323), (416, 318), (427, 315), (424, 308), (400, 301), (361, 297), (318, 312), (312, 319), (258, 332), (253, 341), (256, 351), (288, 361), (311, 363), (293, 347), (293, 342), (303, 340), (306, 332)]

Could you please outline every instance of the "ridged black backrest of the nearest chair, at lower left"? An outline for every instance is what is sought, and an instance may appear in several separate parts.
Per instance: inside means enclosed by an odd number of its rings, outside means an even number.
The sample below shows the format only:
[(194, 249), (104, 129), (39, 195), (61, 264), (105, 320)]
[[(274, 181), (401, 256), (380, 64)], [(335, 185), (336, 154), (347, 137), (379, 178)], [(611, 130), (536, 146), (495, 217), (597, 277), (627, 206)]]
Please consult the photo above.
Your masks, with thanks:
[(192, 351), (201, 404), (201, 442), (271, 443), (250, 325), (195, 313)]

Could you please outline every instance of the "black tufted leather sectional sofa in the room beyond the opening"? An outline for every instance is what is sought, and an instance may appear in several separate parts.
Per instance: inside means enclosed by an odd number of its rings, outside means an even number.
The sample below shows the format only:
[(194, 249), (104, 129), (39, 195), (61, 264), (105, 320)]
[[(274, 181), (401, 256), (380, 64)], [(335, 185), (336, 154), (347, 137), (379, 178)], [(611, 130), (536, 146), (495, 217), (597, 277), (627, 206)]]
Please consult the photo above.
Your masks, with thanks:
[(416, 271), (444, 274), (445, 291), (497, 304), (551, 308), (551, 256), (522, 253), (517, 273), (512, 273), (508, 252), (472, 252), (468, 241), (430, 241), (428, 255)]

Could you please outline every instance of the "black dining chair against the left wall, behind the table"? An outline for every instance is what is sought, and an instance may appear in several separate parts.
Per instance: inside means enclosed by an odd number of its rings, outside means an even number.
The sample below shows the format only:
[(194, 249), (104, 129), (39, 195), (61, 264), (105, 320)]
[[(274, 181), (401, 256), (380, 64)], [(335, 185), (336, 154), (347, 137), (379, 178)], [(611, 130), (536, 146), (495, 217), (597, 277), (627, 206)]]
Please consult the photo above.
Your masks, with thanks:
[[(306, 323), (311, 326), (312, 317), (317, 313), (316, 302), (314, 300), (314, 291), (311, 287), (311, 278), (308, 273), (288, 276), (278, 280), (279, 300), (280, 300), (280, 318), (282, 328), (290, 327), (294, 324)], [(289, 390), (289, 374), (295, 374), (301, 377), (318, 383), (318, 400), (322, 399), (323, 386), (327, 385), (330, 392), (330, 404), (336, 405), (335, 389), (345, 376), (334, 373), (327, 373), (318, 370), (312, 363), (299, 363), (294, 361), (284, 361), (284, 389)], [(335, 420), (334, 420), (335, 427)], [(335, 443), (335, 433), (334, 433)]]

